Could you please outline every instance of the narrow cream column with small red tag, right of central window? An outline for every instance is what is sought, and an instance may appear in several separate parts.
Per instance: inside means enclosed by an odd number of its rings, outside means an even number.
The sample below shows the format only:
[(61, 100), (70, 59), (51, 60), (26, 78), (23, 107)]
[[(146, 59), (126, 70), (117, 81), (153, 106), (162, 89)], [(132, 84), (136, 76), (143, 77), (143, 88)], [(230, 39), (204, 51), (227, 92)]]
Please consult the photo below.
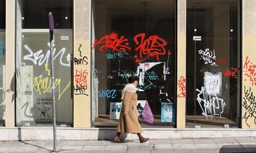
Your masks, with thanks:
[[(180, 79), (186, 79), (186, 0), (179, 0), (177, 16), (177, 83)], [(185, 85), (185, 84), (184, 84)], [(180, 93), (179, 87), (177, 94)], [(186, 126), (186, 96), (177, 97), (177, 128)]]

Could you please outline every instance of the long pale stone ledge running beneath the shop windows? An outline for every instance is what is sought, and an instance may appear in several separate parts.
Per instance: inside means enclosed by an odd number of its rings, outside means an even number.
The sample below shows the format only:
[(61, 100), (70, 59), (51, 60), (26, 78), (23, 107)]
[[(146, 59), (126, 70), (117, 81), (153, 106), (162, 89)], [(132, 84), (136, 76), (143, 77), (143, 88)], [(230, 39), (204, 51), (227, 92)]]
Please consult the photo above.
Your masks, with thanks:
[[(151, 139), (186, 139), (205, 137), (256, 136), (256, 129), (238, 128), (159, 128), (145, 127), (143, 135)], [(57, 127), (57, 140), (105, 140), (113, 139), (115, 127)], [(6, 140), (53, 140), (52, 127), (0, 127), (0, 141)], [(137, 139), (135, 134), (122, 134), (122, 139)]]

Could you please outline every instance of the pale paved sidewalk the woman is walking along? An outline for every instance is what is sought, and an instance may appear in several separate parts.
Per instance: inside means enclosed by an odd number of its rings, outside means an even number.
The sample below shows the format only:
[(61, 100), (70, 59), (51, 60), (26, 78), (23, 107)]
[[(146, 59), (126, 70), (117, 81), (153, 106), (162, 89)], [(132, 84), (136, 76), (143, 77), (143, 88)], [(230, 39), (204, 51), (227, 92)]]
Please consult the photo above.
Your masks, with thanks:
[[(52, 152), (53, 140), (0, 141), (0, 152)], [(204, 139), (150, 139), (125, 140), (116, 144), (112, 140), (57, 140), (57, 152), (256, 152), (255, 137)]]

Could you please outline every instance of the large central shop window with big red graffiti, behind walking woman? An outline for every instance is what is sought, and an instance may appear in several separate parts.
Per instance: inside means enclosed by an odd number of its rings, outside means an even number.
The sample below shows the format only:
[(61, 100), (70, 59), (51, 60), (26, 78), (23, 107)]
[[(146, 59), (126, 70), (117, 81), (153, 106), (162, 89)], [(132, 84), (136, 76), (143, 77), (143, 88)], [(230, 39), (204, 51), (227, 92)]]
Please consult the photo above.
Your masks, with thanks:
[[(117, 126), (130, 75), (142, 126), (175, 126), (176, 1), (97, 1), (92, 17), (92, 124)], [(140, 119), (146, 101), (153, 124)]]

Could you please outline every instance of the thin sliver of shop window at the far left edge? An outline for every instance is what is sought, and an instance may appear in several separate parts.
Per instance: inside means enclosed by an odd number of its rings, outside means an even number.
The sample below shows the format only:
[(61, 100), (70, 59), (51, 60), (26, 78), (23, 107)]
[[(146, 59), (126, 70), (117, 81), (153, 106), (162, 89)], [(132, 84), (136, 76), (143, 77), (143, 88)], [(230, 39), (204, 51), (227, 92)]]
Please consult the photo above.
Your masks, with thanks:
[(0, 126), (4, 125), (6, 103), (6, 1), (0, 0)]

